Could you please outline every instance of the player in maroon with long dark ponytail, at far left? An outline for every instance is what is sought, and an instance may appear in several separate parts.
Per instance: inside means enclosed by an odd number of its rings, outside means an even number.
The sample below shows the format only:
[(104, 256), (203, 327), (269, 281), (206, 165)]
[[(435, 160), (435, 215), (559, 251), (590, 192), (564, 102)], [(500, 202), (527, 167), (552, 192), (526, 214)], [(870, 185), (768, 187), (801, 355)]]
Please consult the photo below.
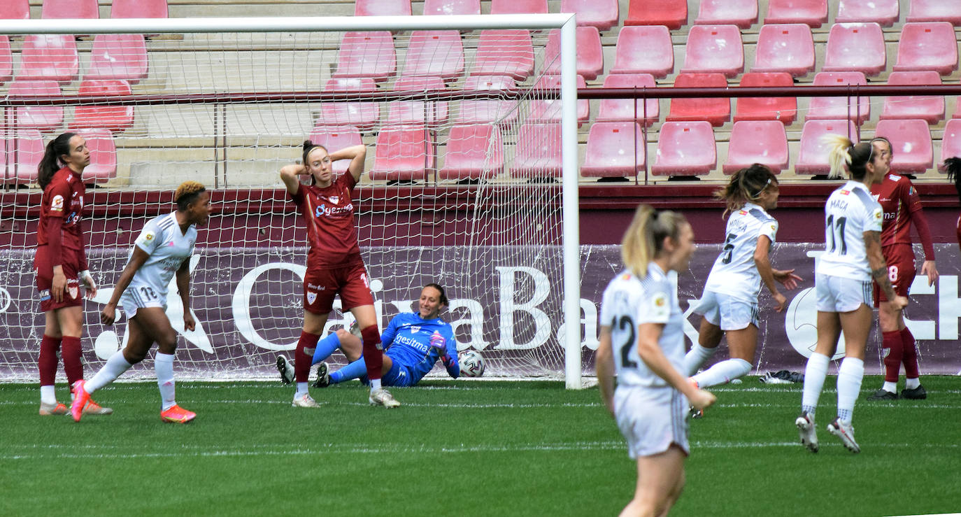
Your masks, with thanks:
[[(91, 298), (97, 294), (86, 265), (84, 249), (84, 194), (82, 175), (90, 164), (90, 150), (81, 135), (64, 133), (47, 144), (37, 166), (40, 221), (37, 226), (37, 254), (34, 271), (40, 310), (43, 311), (43, 338), (40, 340), (40, 414), (66, 414), (67, 407), (57, 401), (54, 379), (57, 376), (57, 351), (63, 357), (68, 385), (84, 378), (80, 337), (84, 331), (84, 284)], [(90, 401), (86, 414), (110, 414), (110, 407)]]

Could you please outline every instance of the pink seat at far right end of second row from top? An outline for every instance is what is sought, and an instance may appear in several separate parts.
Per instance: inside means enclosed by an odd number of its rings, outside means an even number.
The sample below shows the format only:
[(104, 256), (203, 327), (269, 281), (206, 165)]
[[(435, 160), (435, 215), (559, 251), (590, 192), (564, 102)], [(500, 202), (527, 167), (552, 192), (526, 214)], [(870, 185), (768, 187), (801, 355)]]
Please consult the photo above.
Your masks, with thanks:
[(948, 75), (957, 67), (957, 38), (950, 23), (918, 22), (901, 26), (895, 71), (936, 70)]

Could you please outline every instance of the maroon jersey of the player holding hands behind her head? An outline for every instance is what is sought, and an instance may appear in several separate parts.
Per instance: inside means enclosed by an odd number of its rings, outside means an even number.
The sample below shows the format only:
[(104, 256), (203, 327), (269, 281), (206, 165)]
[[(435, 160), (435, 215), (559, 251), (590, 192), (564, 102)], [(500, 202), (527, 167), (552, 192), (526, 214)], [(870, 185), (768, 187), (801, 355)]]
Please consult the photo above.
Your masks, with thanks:
[(300, 185), (290, 196), (307, 223), (308, 268), (345, 265), (360, 259), (351, 199), (354, 185), (357, 181), (347, 172), (330, 186)]

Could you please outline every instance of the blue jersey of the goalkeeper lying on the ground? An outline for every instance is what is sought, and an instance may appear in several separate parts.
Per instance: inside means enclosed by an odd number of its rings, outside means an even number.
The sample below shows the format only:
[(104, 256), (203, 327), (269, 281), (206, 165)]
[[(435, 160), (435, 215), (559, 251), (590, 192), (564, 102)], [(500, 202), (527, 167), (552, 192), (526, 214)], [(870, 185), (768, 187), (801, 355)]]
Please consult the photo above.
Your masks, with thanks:
[[(431, 347), (431, 335), (438, 332), (447, 347), (447, 354), (441, 357), (439, 349)], [(425, 320), (416, 312), (404, 312), (394, 316), (381, 334), (385, 354), (407, 368), (411, 382), (420, 381), (441, 359), (447, 373), (453, 378), (460, 376), (457, 364), (457, 342), (454, 329), (440, 318)]]

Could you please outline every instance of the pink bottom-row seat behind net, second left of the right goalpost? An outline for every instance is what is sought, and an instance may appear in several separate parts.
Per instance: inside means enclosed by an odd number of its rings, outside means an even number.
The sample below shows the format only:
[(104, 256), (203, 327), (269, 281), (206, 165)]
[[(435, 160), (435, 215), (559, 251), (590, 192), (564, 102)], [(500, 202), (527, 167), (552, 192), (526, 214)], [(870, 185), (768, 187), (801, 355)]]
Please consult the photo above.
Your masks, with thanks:
[(437, 172), (440, 179), (480, 180), (503, 172), (504, 142), (497, 126), (472, 124), (451, 128), (444, 166)]

